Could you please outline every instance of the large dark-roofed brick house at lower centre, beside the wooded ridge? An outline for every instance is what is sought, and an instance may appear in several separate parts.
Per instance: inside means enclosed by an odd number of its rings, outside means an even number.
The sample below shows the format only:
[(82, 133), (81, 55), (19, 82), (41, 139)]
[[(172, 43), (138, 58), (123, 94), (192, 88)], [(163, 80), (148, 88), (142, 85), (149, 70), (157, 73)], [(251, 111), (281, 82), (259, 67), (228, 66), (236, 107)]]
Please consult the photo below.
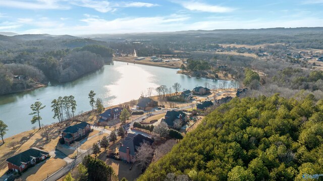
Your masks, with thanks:
[(119, 156), (122, 160), (133, 163), (136, 161), (135, 155), (137, 149), (143, 143), (152, 144), (153, 140), (141, 134), (135, 135), (128, 133), (127, 137), (120, 143)]

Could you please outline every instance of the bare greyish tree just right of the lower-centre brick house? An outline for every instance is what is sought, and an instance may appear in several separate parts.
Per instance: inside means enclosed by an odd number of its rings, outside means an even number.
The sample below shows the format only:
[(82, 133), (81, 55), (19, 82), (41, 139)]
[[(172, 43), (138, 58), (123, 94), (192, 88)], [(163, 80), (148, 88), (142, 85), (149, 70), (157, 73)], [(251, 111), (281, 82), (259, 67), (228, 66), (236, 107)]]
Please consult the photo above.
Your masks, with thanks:
[(136, 152), (136, 161), (138, 161), (138, 165), (141, 167), (146, 166), (150, 163), (153, 156), (153, 148), (147, 143), (143, 142)]

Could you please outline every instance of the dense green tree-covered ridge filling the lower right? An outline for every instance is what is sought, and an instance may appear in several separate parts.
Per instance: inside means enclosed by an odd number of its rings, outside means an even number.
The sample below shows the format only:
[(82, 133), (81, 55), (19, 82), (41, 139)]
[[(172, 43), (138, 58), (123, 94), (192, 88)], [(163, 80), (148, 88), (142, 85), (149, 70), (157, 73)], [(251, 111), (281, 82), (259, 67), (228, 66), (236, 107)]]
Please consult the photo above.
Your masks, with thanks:
[(323, 100), (234, 98), (207, 115), (138, 180), (302, 180), (323, 173)]

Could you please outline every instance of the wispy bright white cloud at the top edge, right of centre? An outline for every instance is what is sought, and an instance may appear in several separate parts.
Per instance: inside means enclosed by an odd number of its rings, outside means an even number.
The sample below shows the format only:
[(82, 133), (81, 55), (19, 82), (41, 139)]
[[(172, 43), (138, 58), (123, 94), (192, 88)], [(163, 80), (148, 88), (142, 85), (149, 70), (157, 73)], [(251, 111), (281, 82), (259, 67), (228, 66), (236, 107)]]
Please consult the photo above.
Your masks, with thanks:
[(208, 13), (228, 13), (234, 11), (233, 8), (208, 5), (199, 2), (181, 1), (175, 2), (191, 11), (208, 12)]

